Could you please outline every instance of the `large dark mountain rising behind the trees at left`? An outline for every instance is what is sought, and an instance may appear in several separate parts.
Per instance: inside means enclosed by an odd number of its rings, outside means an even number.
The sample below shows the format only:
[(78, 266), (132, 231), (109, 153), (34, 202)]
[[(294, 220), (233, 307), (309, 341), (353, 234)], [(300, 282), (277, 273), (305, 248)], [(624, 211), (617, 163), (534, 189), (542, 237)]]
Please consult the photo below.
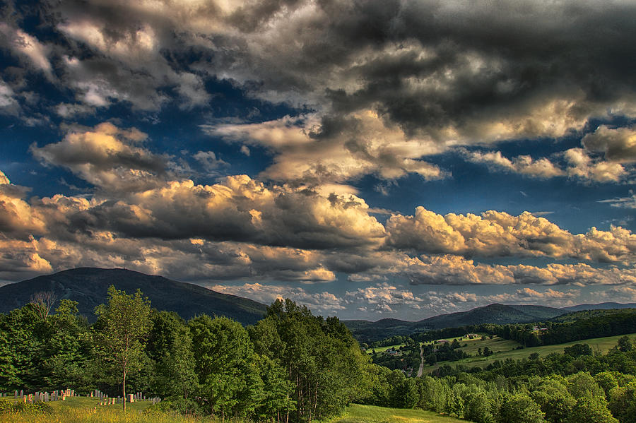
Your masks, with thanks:
[(8, 313), (23, 306), (35, 292), (52, 291), (58, 299), (78, 302), (80, 314), (94, 321), (93, 309), (107, 302), (110, 285), (127, 294), (139, 289), (150, 299), (153, 308), (176, 311), (185, 319), (208, 314), (226, 316), (247, 325), (259, 321), (266, 311), (264, 304), (251, 299), (221, 294), (162, 276), (126, 269), (76, 268), (0, 287), (0, 312)]

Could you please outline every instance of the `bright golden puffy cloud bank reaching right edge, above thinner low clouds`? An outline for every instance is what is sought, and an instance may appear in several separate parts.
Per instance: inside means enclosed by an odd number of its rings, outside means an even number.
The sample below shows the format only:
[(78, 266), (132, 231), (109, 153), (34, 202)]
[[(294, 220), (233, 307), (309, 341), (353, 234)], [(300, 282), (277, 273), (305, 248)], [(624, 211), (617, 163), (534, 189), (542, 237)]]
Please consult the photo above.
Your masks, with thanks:
[(621, 227), (571, 234), (546, 218), (489, 210), (481, 215), (439, 215), (423, 207), (387, 220), (387, 245), (428, 254), (548, 256), (632, 263), (636, 235)]

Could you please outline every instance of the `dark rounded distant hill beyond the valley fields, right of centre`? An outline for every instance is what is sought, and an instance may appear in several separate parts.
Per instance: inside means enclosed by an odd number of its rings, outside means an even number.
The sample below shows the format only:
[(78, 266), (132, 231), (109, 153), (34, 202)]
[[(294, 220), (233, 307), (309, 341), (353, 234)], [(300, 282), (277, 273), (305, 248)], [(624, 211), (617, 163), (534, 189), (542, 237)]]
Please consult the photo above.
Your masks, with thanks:
[(469, 311), (440, 314), (440, 316), (429, 317), (420, 321), (384, 318), (376, 322), (354, 320), (343, 321), (343, 323), (358, 340), (372, 342), (394, 335), (411, 335), (411, 333), (425, 330), (454, 328), (457, 326), (479, 325), (482, 323), (505, 324), (545, 321), (567, 312), (567, 310), (546, 306), (490, 304)]

